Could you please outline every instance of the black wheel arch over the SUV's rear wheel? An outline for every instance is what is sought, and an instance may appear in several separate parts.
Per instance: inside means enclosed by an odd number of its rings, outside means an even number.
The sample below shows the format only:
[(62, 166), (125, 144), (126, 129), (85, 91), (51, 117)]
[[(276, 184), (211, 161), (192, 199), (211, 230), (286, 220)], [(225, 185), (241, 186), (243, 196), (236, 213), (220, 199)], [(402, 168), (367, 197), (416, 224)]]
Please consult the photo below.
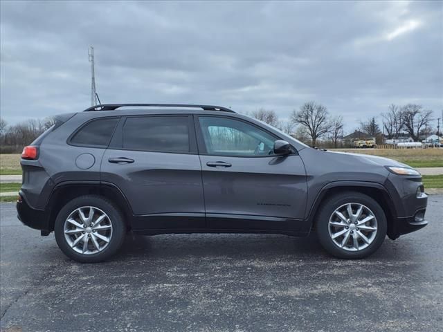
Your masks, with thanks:
[(116, 185), (113, 183), (100, 183), (100, 181), (66, 181), (54, 187), (46, 205), (46, 209), (49, 211), (49, 230), (54, 230), (57, 214), (66, 203), (77, 197), (91, 194), (105, 197), (111, 201), (114, 207), (118, 208), (123, 214), (127, 229), (130, 230), (132, 228), (132, 217), (134, 214), (131, 205), (129, 205), (127, 198)]

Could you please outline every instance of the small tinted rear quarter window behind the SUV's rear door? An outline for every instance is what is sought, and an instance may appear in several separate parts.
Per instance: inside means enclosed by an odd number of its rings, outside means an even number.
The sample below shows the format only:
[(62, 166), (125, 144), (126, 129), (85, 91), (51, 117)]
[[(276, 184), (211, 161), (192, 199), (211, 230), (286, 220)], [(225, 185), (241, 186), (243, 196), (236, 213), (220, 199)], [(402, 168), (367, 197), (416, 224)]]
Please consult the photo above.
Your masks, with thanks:
[(107, 147), (118, 120), (118, 118), (106, 118), (88, 122), (71, 138), (71, 144)]

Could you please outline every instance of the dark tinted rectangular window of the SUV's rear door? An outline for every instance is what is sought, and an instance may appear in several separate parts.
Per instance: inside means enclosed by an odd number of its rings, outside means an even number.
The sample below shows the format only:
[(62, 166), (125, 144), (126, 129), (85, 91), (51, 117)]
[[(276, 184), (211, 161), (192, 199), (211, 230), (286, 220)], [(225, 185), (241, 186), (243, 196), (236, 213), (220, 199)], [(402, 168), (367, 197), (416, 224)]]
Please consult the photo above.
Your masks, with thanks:
[(123, 149), (188, 153), (188, 116), (127, 118), (123, 126)]

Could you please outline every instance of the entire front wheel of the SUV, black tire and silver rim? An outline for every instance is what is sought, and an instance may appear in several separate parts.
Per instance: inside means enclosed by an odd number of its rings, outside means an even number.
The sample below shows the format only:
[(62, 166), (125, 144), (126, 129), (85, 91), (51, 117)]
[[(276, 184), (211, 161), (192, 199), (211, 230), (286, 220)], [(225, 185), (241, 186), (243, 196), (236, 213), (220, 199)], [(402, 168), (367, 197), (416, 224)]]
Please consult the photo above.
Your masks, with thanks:
[[(359, 211), (361, 214), (357, 218)], [(316, 232), (321, 245), (330, 255), (343, 259), (372, 255), (383, 243), (387, 228), (386, 216), (379, 203), (360, 192), (331, 196), (322, 203), (316, 216)], [(336, 237), (338, 233), (341, 234)]]

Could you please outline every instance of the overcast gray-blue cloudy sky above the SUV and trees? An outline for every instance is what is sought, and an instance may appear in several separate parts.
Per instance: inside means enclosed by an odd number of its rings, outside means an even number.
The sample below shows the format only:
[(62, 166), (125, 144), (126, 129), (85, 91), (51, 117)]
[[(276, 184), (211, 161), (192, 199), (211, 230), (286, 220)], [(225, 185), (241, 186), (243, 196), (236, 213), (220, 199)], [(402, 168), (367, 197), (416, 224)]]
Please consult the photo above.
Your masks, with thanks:
[[(102, 103), (260, 107), (315, 100), (350, 131), (388, 105), (443, 109), (443, 2), (1, 1), (1, 116)], [(436, 125), (436, 124), (435, 124)]]

